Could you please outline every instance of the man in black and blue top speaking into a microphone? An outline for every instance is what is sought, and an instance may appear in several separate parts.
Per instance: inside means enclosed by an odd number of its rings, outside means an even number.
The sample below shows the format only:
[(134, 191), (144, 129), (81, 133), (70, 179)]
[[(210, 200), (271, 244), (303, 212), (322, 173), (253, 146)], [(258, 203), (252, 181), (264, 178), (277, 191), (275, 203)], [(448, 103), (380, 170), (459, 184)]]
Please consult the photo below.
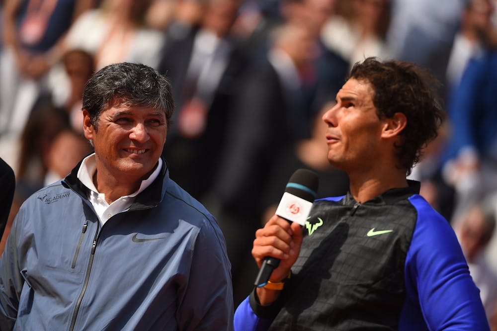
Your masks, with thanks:
[(281, 262), (235, 330), (489, 330), (452, 228), (406, 179), (443, 118), (427, 79), (407, 62), (355, 64), (323, 116), (349, 192), (315, 201), (310, 235), (278, 216), (257, 230), (257, 264)]

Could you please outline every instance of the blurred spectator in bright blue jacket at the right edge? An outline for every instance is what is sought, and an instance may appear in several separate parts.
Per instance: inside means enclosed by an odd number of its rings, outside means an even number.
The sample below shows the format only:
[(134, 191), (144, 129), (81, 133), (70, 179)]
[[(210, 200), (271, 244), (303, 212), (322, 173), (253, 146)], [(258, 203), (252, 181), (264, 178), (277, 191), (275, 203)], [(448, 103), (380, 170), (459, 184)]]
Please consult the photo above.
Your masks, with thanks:
[(497, 50), (468, 63), (448, 103), (450, 141), (443, 174), (456, 190), (454, 217), (497, 191)]

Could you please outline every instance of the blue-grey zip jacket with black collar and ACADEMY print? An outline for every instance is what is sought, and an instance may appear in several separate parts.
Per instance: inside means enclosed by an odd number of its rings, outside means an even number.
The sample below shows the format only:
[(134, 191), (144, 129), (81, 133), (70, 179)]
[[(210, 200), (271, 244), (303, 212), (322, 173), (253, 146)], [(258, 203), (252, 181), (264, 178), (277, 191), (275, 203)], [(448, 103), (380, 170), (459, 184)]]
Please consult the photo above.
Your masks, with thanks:
[(232, 330), (224, 237), (166, 163), (103, 227), (79, 166), (15, 218), (0, 259), (0, 329)]

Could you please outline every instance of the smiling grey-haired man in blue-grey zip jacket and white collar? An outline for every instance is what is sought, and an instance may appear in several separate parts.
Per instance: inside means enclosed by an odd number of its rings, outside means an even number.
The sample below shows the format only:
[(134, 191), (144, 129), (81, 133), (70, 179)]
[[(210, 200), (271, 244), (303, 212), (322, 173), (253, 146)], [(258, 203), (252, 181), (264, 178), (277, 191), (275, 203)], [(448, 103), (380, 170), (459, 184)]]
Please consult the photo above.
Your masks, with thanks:
[(223, 235), (161, 159), (174, 109), (144, 65), (98, 71), (83, 93), (94, 147), (31, 196), (0, 259), (0, 330), (231, 330)]

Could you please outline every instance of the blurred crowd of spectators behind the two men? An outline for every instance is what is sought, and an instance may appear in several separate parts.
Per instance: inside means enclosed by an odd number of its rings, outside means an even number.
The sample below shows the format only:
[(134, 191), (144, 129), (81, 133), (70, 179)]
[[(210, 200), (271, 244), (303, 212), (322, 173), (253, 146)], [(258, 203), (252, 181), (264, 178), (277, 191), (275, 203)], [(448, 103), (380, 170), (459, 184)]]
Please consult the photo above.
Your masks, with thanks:
[[(172, 82), (163, 154), (171, 178), (218, 219), (238, 304), (256, 275), (254, 231), (293, 171), (318, 172), (318, 197), (347, 191), (346, 175), (327, 162), (321, 116), (351, 66), (408, 60), (437, 78), (447, 111), (410, 178), (454, 227), (496, 315), (497, 0), (0, 3), (0, 157), (16, 175), (10, 222), (27, 196), (91, 152), (81, 114), (90, 75), (144, 63)], [(8, 226), (1, 247), (7, 235)]]

